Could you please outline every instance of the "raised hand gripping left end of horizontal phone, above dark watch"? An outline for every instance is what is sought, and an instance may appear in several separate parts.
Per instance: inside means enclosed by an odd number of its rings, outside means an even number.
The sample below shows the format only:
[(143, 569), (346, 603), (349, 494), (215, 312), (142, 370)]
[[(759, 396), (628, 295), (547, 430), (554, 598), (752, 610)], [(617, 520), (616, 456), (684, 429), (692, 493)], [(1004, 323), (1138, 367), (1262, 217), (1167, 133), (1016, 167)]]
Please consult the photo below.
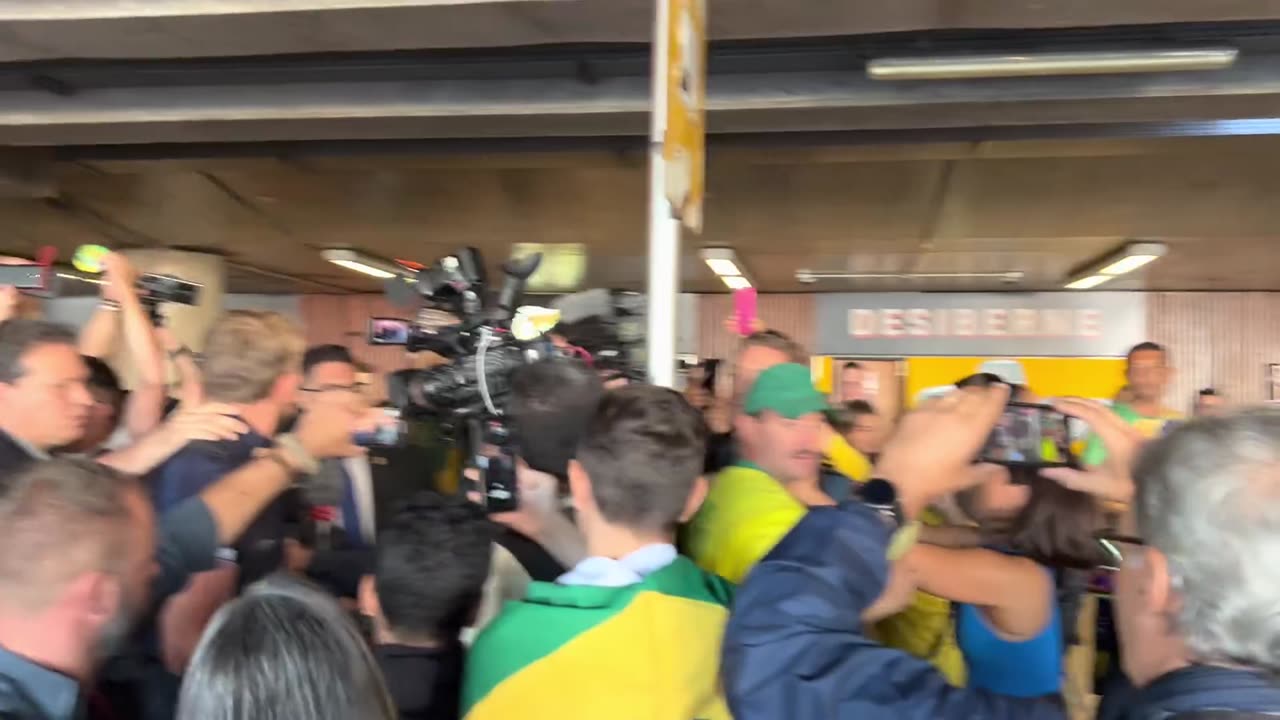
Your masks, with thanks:
[(1009, 402), (1009, 386), (964, 388), (924, 404), (899, 423), (876, 464), (874, 477), (892, 482), (899, 501), (916, 516), (931, 501), (964, 489), (991, 429)]

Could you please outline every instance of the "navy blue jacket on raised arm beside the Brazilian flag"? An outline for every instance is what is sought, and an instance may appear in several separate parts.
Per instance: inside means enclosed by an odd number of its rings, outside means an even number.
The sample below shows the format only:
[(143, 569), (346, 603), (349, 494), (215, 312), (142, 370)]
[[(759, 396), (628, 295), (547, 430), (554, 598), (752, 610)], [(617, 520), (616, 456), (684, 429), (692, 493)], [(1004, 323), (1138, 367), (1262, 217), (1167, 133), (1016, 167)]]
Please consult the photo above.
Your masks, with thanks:
[(858, 502), (815, 507), (739, 588), (723, 675), (736, 720), (1062, 720), (1057, 700), (952, 688), (877, 644), (860, 616), (884, 588), (888, 532)]

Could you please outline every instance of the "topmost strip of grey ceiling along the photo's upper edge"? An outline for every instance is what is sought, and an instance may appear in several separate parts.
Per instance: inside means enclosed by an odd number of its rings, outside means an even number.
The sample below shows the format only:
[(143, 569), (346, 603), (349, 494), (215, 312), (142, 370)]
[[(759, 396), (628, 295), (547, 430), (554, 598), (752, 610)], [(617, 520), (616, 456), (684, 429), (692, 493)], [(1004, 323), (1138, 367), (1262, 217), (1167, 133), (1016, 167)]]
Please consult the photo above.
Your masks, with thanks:
[[(3, 0), (0, 61), (645, 42), (650, 0)], [(714, 40), (1280, 19), (1276, 0), (716, 0)]]

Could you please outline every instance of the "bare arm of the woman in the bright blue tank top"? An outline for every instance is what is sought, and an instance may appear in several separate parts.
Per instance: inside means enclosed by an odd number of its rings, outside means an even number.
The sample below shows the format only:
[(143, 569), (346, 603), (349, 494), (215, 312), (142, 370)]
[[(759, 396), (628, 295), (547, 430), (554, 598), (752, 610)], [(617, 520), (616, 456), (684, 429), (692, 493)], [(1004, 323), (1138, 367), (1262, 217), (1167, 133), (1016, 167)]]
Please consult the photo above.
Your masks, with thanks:
[(1053, 583), (1033, 560), (980, 547), (918, 544), (902, 562), (920, 589), (987, 609), (996, 628), (1014, 638), (1032, 637), (1048, 621)]

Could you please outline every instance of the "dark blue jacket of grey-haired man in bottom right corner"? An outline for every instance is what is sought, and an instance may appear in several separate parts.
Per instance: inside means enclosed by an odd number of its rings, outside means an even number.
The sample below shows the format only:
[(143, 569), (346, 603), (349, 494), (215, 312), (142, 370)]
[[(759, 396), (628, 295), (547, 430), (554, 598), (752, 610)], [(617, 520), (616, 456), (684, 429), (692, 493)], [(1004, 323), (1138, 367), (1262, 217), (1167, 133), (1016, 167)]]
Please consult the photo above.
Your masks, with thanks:
[(1108, 693), (1100, 720), (1167, 720), (1188, 712), (1230, 710), (1280, 714), (1280, 682), (1235, 667), (1192, 665), (1161, 675), (1142, 689)]

